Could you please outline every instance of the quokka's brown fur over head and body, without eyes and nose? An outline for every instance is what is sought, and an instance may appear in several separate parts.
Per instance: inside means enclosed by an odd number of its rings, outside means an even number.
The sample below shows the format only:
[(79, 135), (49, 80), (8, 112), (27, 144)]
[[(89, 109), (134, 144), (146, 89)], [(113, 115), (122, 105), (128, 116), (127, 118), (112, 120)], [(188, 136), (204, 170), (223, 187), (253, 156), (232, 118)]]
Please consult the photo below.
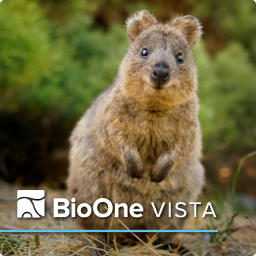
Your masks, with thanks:
[[(92, 206), (105, 197), (112, 203), (142, 204), (141, 218), (119, 215), (131, 229), (166, 225), (180, 229), (186, 218), (175, 217), (176, 211), (169, 218), (167, 206), (157, 218), (151, 202), (157, 210), (162, 202), (189, 205), (203, 187), (197, 68), (192, 56), (201, 28), (192, 16), (163, 24), (141, 11), (127, 21), (127, 31), (131, 44), (116, 80), (72, 132), (68, 188), (77, 203)], [(149, 50), (147, 58), (140, 56), (143, 48)], [(184, 56), (182, 64), (176, 61), (178, 53)], [(163, 61), (170, 68), (170, 79), (157, 90), (151, 69)], [(79, 222), (86, 229), (104, 229), (110, 218), (91, 214)], [(111, 228), (123, 227), (114, 220)], [(170, 238), (168, 233), (159, 236)]]

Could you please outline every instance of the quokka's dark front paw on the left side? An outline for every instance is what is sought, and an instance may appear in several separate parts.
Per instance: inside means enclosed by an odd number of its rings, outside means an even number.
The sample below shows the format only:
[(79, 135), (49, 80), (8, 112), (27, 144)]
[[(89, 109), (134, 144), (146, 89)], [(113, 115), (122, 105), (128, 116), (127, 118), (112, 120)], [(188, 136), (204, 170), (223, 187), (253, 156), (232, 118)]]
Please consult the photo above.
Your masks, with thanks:
[(131, 151), (125, 157), (127, 172), (132, 178), (142, 178), (144, 173), (144, 165), (140, 160), (138, 152)]

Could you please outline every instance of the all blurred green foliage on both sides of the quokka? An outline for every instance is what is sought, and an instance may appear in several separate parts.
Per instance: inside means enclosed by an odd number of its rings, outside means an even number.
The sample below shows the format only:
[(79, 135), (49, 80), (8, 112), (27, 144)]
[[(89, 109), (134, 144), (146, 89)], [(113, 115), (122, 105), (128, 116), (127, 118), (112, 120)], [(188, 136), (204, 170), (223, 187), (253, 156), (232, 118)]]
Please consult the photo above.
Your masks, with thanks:
[[(156, 4), (126, 3), (124, 9), (148, 6), (151, 12)], [(95, 26), (92, 13), (104, 4), (1, 1), (0, 111), (33, 116), (54, 113), (69, 121), (77, 119), (110, 86), (129, 42), (123, 24), (112, 23), (108, 30)], [(161, 4), (164, 6), (165, 1)], [(215, 56), (206, 50), (207, 34), (195, 48), (206, 151), (221, 154), (253, 149), (256, 4), (231, 0), (186, 0), (184, 4), (197, 18), (206, 20), (206, 26), (224, 33), (227, 41)], [(123, 10), (121, 1), (112, 5)], [(157, 8), (157, 12), (161, 10)]]

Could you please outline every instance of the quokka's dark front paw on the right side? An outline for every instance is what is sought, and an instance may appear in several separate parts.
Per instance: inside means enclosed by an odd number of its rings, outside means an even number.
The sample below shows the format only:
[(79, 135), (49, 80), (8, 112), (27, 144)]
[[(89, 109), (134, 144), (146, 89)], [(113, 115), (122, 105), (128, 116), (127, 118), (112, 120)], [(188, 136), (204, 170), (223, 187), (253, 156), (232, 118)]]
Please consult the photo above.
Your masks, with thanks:
[(157, 161), (156, 165), (154, 165), (153, 169), (151, 170), (150, 180), (152, 182), (163, 181), (166, 178), (167, 174), (169, 173), (172, 165), (173, 162), (171, 161)]

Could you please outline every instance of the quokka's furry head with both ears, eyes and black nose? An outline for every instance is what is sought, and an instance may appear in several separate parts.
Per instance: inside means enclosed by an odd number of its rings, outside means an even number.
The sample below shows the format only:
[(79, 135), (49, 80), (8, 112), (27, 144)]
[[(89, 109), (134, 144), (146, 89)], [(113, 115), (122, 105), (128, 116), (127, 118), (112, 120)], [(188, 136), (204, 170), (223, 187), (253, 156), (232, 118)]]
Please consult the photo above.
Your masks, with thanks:
[(119, 69), (124, 93), (151, 109), (186, 102), (197, 89), (198, 20), (187, 15), (164, 24), (143, 10), (127, 20), (127, 32), (131, 43)]

